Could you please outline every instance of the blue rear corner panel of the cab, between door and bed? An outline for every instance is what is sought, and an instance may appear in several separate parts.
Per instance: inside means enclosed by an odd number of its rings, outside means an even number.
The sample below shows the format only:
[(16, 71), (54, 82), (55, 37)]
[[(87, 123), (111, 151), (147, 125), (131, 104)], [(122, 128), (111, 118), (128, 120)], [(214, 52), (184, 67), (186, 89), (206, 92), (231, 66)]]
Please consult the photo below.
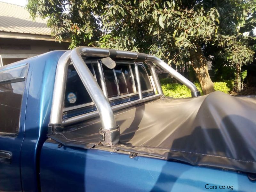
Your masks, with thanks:
[(21, 148), (20, 170), (24, 191), (38, 191), (39, 157), (50, 121), (52, 93), (58, 60), (64, 51), (52, 51), (28, 62), (33, 65), (28, 91), (25, 137)]

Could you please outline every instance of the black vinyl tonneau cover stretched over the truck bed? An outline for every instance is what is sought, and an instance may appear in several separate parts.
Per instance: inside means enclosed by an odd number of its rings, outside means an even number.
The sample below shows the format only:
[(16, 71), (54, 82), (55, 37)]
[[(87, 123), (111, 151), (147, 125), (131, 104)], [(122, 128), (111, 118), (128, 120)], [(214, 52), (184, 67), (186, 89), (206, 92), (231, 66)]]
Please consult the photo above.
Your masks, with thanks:
[[(222, 92), (154, 100), (115, 113), (121, 145), (114, 149), (256, 173), (256, 98)], [(66, 146), (99, 144), (99, 120), (49, 137)]]

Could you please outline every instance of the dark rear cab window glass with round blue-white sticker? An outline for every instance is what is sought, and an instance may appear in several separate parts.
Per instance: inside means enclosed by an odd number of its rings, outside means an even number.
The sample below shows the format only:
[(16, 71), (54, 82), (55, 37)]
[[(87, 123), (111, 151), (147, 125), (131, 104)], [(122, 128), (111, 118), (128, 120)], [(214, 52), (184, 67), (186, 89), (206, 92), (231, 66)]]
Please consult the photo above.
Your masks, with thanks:
[[(90, 69), (92, 75), (102, 87), (100, 82), (106, 84), (109, 100), (120, 100), (124, 97), (129, 97), (138, 94), (137, 82), (135, 80), (135, 70), (133, 62), (118, 62), (116, 67), (109, 69), (101, 61), (87, 61), (85, 62)], [(99, 65), (103, 69), (103, 77), (101, 80)], [(143, 65), (138, 65), (141, 89), (144, 92), (152, 92), (152, 86), (148, 78), (148, 74)], [(127, 100), (128, 102), (129, 100)], [(119, 102), (119, 101), (118, 101)], [(92, 106), (93, 102), (88, 92), (86, 91), (76, 69), (72, 64), (68, 66), (67, 85), (65, 92), (64, 111)], [(92, 109), (94, 110), (94, 109)]]

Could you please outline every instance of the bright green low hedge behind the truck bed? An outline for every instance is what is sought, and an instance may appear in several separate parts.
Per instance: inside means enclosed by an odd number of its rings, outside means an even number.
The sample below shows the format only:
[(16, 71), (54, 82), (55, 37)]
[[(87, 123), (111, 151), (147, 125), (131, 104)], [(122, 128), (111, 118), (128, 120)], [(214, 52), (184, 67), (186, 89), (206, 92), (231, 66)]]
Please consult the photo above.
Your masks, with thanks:
[[(185, 97), (191, 97), (190, 90), (185, 86), (177, 83), (162, 83), (162, 89), (164, 92), (164, 95), (174, 97), (174, 98), (185, 98)], [(199, 83), (195, 83), (197, 89), (201, 92), (201, 95), (203, 95), (201, 86)], [(221, 91), (224, 93), (229, 93), (232, 90), (233, 83), (232, 81), (226, 81), (226, 82), (215, 82), (214, 83), (214, 89), (215, 91)]]

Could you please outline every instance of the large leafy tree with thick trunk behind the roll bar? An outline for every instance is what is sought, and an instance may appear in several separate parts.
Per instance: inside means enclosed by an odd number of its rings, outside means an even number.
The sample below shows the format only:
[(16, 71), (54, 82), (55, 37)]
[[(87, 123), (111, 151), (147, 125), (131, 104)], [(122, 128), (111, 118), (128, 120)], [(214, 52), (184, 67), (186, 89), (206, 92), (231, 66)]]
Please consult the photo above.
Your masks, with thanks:
[[(70, 48), (91, 45), (154, 54), (168, 64), (191, 61), (204, 94), (214, 91), (205, 51), (222, 47), (252, 14), (245, 0), (28, 0)], [(232, 36), (232, 37), (230, 37)], [(242, 53), (241, 53), (242, 54)]]

